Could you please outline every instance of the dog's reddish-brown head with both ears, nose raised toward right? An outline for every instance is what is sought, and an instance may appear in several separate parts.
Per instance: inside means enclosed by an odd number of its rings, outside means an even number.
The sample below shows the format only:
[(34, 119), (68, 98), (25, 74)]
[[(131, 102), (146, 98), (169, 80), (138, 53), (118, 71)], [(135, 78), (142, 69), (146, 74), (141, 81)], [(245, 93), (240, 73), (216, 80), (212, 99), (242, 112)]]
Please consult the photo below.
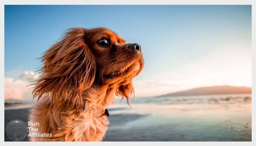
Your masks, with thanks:
[[(74, 28), (42, 57), (42, 75), (35, 83), (34, 97), (51, 93), (55, 101), (81, 96), (92, 86), (109, 85), (128, 98), (132, 78), (143, 69), (141, 46), (106, 28)], [(63, 100), (62, 100), (63, 101)]]

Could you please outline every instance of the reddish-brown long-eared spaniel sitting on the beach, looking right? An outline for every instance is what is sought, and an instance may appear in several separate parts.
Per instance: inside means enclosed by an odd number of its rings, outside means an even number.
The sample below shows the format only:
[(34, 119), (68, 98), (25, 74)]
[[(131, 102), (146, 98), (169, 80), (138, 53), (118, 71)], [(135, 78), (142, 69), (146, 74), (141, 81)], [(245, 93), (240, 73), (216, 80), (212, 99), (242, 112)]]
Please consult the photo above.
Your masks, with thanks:
[(102, 141), (107, 107), (115, 96), (128, 102), (132, 79), (144, 66), (141, 46), (107, 28), (69, 29), (41, 60), (41, 75), (32, 84), (38, 103), (29, 115), (40, 124), (34, 126), (39, 135), (31, 140)]

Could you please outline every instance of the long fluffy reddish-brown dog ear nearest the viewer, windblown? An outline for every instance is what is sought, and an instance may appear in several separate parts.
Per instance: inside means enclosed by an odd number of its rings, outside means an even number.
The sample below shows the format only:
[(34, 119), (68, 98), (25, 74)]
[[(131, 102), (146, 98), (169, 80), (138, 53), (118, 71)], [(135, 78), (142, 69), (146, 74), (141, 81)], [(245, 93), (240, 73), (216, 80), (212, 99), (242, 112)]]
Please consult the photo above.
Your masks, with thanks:
[[(84, 42), (87, 30), (68, 30), (61, 41), (48, 49), (41, 57), (42, 75), (36, 80), (33, 97), (40, 99), (51, 93), (55, 102), (64, 102), (70, 97), (80, 97), (95, 78), (96, 63)], [(81, 99), (80, 99), (81, 100)]]

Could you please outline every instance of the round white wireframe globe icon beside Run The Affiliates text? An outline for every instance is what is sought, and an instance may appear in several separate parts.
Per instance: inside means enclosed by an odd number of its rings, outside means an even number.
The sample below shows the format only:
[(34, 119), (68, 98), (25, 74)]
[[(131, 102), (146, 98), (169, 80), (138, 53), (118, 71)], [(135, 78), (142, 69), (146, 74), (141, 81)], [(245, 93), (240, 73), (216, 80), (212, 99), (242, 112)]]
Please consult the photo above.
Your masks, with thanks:
[(7, 137), (12, 141), (22, 141), (28, 135), (28, 128), (22, 120), (11, 120), (5, 129)]

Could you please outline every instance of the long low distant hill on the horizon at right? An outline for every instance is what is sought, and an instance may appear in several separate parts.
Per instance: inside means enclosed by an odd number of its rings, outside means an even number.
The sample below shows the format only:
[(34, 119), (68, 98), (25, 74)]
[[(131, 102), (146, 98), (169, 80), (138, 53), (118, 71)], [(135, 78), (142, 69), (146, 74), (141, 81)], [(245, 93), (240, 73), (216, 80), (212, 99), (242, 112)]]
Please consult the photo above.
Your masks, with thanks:
[(211, 86), (200, 87), (190, 90), (169, 93), (161, 95), (164, 96), (192, 96), (192, 95), (219, 95), (219, 94), (251, 94), (252, 88), (250, 87), (237, 87), (237, 86)]

